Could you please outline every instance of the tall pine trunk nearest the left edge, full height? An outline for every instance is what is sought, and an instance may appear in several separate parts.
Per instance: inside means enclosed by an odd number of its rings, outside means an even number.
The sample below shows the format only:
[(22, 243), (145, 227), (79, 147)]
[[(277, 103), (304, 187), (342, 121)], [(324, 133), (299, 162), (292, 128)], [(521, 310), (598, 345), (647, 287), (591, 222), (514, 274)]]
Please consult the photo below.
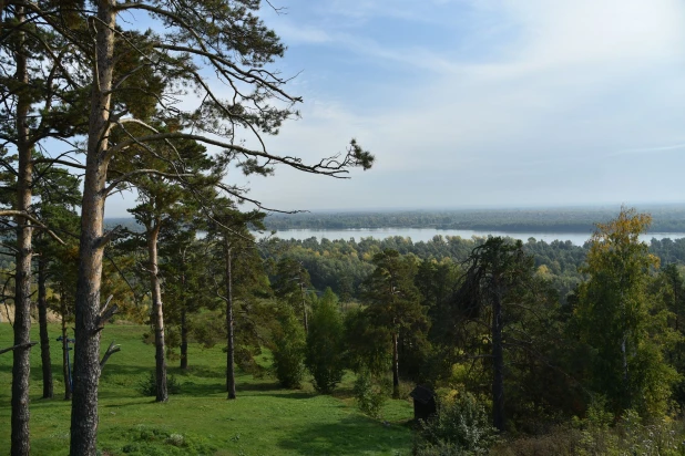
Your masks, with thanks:
[[(24, 9), (16, 7), (18, 23), (23, 23)], [(31, 107), (28, 93), (29, 73), (27, 56), (23, 53), (25, 34), (18, 32), (17, 80), (20, 92), (17, 100), (17, 153), (19, 168), (17, 178), (17, 210), (31, 210), (31, 144), (29, 138), (28, 115)], [(31, 222), (22, 217), (14, 219), (17, 224), (17, 274), (14, 278), (14, 345), (30, 342), (31, 331)], [(18, 349), (12, 352), (12, 437), (10, 453), (13, 456), (28, 455), (29, 443), (29, 377), (31, 373), (30, 349)]]

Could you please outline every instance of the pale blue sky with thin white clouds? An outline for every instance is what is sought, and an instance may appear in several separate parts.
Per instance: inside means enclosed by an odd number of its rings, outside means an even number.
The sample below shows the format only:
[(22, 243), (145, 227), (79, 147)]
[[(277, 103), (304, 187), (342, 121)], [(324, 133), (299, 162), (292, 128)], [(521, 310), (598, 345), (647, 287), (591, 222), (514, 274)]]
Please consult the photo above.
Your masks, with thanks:
[[(682, 0), (272, 0), (305, 162), (355, 137), (350, 179), (245, 178), (283, 210), (685, 203)], [(249, 142), (249, 139), (248, 139)], [(125, 216), (127, 199), (108, 203)]]

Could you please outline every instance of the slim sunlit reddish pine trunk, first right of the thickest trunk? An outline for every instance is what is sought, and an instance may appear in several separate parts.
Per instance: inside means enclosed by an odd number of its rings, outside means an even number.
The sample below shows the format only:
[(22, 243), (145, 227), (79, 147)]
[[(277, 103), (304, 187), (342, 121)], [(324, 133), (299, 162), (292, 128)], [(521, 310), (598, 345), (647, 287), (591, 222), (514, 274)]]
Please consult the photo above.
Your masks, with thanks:
[(164, 311), (162, 308), (162, 287), (157, 267), (157, 237), (160, 225), (155, 225), (147, 231), (147, 256), (150, 258), (150, 286), (152, 289), (152, 320), (154, 324), (154, 346), (155, 346), (155, 381), (157, 395), (155, 401), (168, 401), (166, 388), (166, 346), (164, 343)]

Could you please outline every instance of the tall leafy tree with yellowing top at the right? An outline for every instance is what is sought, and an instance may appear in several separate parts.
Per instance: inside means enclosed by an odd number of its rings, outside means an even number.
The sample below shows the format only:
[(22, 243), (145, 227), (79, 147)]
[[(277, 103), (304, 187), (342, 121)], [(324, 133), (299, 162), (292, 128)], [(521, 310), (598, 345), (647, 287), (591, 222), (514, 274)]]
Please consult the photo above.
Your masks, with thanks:
[(583, 268), (590, 279), (577, 293), (581, 338), (593, 350), (592, 386), (616, 415), (627, 408), (665, 412), (676, 377), (655, 343), (667, 328), (655, 320), (646, 292), (650, 271), (658, 266), (640, 241), (651, 220), (623, 208), (615, 219), (597, 224)]

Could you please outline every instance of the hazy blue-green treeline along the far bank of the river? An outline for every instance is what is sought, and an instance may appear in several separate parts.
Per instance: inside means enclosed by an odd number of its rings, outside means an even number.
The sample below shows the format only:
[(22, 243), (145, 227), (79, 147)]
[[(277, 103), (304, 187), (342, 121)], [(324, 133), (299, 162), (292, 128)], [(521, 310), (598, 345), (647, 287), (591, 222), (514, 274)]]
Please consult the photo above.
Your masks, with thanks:
[[(683, 205), (638, 209), (652, 215), (652, 231), (685, 231), (685, 206)], [(274, 214), (266, 218), (266, 227), (276, 230), (402, 227), (509, 232), (591, 232), (597, 220), (611, 219), (617, 213), (618, 208), (570, 208)]]

